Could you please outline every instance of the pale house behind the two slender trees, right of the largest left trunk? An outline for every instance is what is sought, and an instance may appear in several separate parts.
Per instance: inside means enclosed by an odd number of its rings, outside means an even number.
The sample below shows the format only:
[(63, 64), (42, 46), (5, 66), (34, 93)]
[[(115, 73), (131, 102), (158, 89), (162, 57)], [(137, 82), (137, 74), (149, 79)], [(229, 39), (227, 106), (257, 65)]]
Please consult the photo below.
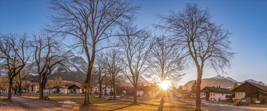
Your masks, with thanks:
[[(91, 88), (91, 94), (100, 94), (99, 85), (95, 85)], [(102, 85), (102, 95), (113, 94), (113, 88), (111, 86)]]

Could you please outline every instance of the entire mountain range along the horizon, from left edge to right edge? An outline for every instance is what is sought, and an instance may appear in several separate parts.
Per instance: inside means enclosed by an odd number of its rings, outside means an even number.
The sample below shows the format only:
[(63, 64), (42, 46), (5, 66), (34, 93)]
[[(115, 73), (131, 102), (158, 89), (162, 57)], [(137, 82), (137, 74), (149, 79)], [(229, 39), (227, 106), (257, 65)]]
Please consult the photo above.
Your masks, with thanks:
[[(72, 51), (69, 51), (66, 54), (66, 57), (67, 58), (62, 63), (63, 65), (56, 65), (52, 69), (52, 74), (48, 76), (48, 79), (53, 79), (55, 77), (60, 76), (60, 77), (62, 77), (63, 80), (66, 80), (66, 81), (83, 83), (85, 81), (85, 78), (86, 78), (88, 63), (86, 63), (86, 61), (83, 59), (83, 57), (75, 56), (75, 54)], [(60, 59), (60, 58), (58, 58), (58, 59)], [(26, 65), (26, 67), (31, 71), (31, 73), (28, 77), (29, 80), (32, 82), (38, 82), (36, 63), (35, 62), (28, 63)], [(0, 70), (1, 75), (3, 75), (4, 73), (5, 73), (5, 70), (3, 70), (3, 69)], [(125, 84), (128, 86), (132, 85), (126, 76), (121, 75), (119, 78), (121, 79), (121, 81), (120, 81), (121, 84)], [(195, 80), (188, 81), (186, 84), (183, 85), (183, 89), (190, 90), (194, 81)], [(255, 81), (253, 79), (248, 79), (245, 81), (250, 81), (253, 83), (260, 84), (260, 85), (265, 85), (263, 82)], [(228, 88), (228, 87), (232, 87), (235, 82), (239, 85), (245, 81), (239, 82), (239, 81), (237, 81), (231, 77), (225, 78), (223, 76), (217, 75), (215, 77), (202, 79), (201, 88), (204, 88), (206, 86), (210, 86), (210, 87), (220, 86), (222, 88)], [(144, 86), (151, 84), (142, 76), (139, 77), (139, 83), (142, 83)]]

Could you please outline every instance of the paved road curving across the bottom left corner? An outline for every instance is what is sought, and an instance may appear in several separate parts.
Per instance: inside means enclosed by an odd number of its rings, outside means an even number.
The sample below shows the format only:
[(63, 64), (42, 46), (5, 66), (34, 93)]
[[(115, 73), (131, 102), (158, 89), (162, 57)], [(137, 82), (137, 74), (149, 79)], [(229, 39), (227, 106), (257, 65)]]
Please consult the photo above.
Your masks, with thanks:
[(40, 110), (40, 111), (41, 110), (44, 110), (44, 111), (47, 111), (47, 110), (49, 111), (50, 110), (84, 110), (84, 109), (79, 109), (77, 107), (65, 107), (65, 106), (43, 102), (43, 101), (36, 100), (36, 99), (24, 98), (20, 96), (12, 96), (12, 100), (27, 110)]

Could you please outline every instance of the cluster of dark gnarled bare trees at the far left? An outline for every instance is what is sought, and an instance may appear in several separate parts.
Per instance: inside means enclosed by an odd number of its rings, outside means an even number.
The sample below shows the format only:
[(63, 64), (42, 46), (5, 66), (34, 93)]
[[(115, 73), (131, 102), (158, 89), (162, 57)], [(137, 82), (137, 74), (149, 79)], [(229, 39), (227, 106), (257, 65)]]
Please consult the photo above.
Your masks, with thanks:
[[(39, 75), (40, 99), (43, 98), (42, 92), (53, 66), (64, 61), (64, 53), (60, 51), (60, 43), (55, 38), (48, 33), (32, 34), (32, 36), (27, 33), (0, 34), (0, 65), (8, 78), (9, 99), (12, 88), (15, 93), (19, 90), (21, 95), (22, 81), (31, 72)], [(35, 62), (36, 72), (28, 71), (26, 68), (30, 60)]]

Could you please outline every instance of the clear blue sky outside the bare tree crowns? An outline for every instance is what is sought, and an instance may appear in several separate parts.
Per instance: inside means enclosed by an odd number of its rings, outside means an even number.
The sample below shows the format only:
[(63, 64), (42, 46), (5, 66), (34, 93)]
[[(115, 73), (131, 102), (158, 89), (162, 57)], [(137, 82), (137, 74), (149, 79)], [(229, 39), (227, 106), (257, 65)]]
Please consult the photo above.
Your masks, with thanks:
[[(267, 1), (133, 1), (142, 4), (136, 16), (136, 24), (143, 28), (158, 24), (156, 15), (168, 15), (169, 10), (180, 11), (185, 3), (198, 3), (200, 7), (211, 11), (212, 19), (217, 24), (230, 30), (233, 52), (237, 52), (232, 61), (232, 69), (227, 75), (237, 81), (254, 79), (267, 82)], [(49, 23), (46, 1), (1, 1), (0, 32), (39, 32)], [(207, 68), (207, 67), (206, 67)], [(203, 78), (216, 76), (210, 69), (205, 69)], [(192, 68), (183, 77), (182, 83), (197, 79)]]

